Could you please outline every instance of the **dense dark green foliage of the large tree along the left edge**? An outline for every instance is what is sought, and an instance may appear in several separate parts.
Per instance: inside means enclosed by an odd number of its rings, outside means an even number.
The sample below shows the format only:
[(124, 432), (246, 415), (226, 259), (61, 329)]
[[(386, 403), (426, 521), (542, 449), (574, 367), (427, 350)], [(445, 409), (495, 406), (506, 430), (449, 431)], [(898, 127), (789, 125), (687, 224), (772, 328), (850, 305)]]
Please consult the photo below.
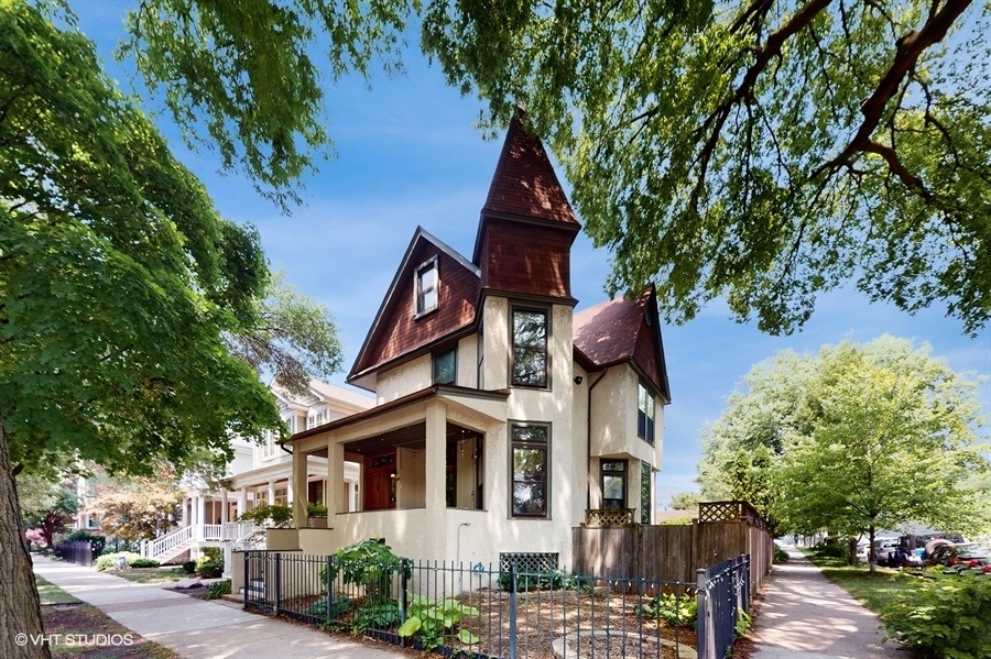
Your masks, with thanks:
[(77, 454), (150, 473), (280, 428), (224, 332), (258, 322), (253, 229), (101, 73), (92, 44), (0, 7), (0, 409), (23, 468)]

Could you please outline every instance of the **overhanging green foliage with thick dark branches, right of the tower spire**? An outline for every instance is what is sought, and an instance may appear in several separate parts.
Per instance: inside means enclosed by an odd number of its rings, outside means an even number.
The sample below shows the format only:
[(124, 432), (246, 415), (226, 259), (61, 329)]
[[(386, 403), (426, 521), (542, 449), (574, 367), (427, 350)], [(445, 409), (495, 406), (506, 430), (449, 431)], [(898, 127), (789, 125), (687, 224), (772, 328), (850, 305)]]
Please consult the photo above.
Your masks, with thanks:
[(847, 281), (991, 316), (991, 42), (970, 0), (435, 0), (424, 48), (549, 140), (611, 292), (791, 332)]

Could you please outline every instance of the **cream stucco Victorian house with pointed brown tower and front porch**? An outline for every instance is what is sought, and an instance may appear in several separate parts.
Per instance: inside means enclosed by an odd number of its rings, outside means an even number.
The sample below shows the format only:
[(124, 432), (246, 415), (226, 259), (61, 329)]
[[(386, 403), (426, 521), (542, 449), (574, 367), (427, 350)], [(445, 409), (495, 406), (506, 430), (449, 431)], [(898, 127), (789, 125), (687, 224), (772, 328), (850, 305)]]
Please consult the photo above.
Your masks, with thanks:
[[(510, 123), (472, 257), (417, 228), (348, 375), (375, 406), (288, 447), (326, 461), (329, 528), (269, 532), (324, 554), (381, 537), (417, 559), (570, 563), (579, 524), (651, 523), (669, 400), (653, 287), (574, 312), (579, 231), (538, 140)], [(338, 493), (360, 468), (357, 509)]]

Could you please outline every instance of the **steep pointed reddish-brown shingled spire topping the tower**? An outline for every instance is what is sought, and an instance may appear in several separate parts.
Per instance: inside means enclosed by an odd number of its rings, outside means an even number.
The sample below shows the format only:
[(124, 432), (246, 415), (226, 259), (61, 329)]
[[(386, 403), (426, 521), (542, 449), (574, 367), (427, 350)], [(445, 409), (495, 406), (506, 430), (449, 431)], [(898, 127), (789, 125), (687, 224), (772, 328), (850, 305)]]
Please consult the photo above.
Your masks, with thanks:
[(532, 218), (578, 227), (544, 145), (523, 124), (522, 110), (518, 110), (510, 121), (482, 215)]

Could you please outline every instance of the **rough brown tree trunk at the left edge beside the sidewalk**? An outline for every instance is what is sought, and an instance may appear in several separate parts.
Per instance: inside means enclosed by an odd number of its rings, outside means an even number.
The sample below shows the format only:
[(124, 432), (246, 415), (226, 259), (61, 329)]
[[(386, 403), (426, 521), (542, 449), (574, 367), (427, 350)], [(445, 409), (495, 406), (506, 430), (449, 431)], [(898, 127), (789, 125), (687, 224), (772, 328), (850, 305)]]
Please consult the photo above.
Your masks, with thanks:
[(3, 596), (0, 597), (0, 657), (47, 659), (51, 651), (44, 640), (41, 601), (34, 584), (34, 569), (28, 552), (28, 539), (21, 523), (21, 505), (13, 472), (10, 449), (0, 417), (0, 574), (3, 574)]

